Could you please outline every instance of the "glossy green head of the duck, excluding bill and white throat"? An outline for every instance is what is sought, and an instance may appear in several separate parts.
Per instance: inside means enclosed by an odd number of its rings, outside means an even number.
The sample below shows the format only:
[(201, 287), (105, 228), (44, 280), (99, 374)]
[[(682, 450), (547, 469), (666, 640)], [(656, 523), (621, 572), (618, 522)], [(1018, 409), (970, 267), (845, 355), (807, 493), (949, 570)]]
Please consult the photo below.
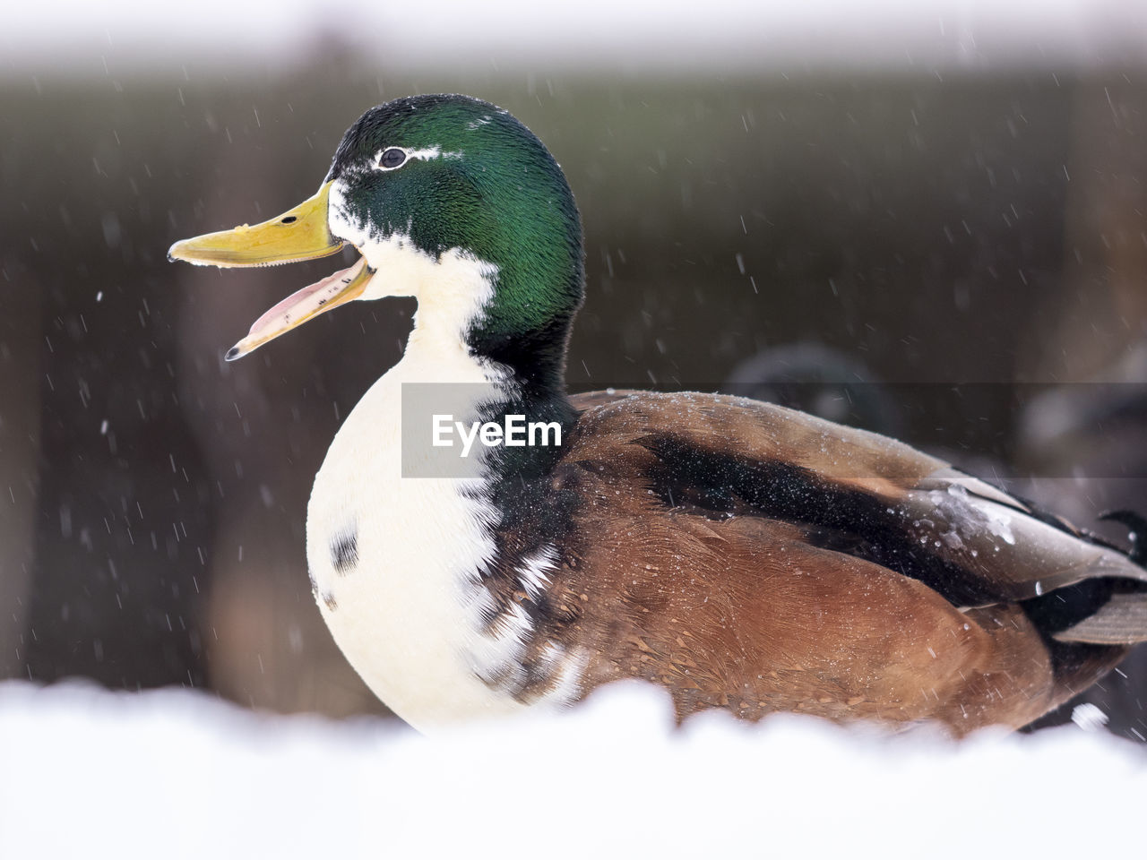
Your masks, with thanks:
[(358, 248), (409, 243), (434, 259), (459, 251), (496, 267), (467, 333), (476, 351), (521, 366), (523, 350), (564, 349), (583, 295), (582, 225), (561, 167), (508, 112), (462, 95), (373, 108), (344, 135), (327, 179), (331, 232)]

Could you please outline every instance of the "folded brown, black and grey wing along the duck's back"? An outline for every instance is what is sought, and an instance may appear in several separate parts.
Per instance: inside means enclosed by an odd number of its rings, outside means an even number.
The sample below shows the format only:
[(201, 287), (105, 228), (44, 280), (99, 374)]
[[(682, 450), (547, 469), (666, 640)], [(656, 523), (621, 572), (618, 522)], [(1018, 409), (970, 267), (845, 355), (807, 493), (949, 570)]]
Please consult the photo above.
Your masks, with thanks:
[[(883, 436), (717, 394), (599, 392), (572, 401), (582, 414), (567, 462), (631, 471), (670, 508), (799, 525), (810, 544), (916, 579), (960, 608), (1097, 578), (1147, 583), (1147, 570), (1124, 554)], [(1099, 615), (1095, 631), (1068, 618), (1062, 625), (1076, 636), (1048, 632), (1105, 643), (1147, 638), (1138, 594)]]

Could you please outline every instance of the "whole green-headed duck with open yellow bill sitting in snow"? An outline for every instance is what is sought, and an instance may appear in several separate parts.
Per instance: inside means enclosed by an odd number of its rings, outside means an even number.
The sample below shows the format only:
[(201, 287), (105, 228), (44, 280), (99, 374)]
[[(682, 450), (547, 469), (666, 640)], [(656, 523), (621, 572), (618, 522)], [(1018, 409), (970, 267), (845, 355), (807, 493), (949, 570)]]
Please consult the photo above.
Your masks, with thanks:
[(1141, 554), (907, 444), (739, 397), (568, 393), (580, 214), (501, 108), (372, 108), (313, 196), (169, 257), (266, 266), (346, 245), (353, 265), (225, 358), (352, 300), (416, 300), (401, 359), (315, 476), (306, 562), (348, 660), (421, 732), (639, 679), (679, 721), (962, 736), (1025, 726), (1147, 640)]

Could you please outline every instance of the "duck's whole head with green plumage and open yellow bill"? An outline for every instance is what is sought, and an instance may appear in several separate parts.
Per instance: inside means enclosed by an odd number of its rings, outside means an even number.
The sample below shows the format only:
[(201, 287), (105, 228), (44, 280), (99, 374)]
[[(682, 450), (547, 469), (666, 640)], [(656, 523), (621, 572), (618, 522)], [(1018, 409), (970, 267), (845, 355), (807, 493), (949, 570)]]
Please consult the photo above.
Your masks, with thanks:
[[(227, 358), (351, 299), (414, 295), (420, 316), (432, 316), (443, 294), (468, 289), (450, 296), (467, 347), (524, 380), (561, 383), (584, 291), (580, 219), (561, 167), (505, 110), (463, 95), (372, 108), (309, 201), (255, 227), (177, 242), (170, 256), (267, 265), (348, 242), (362, 260), (281, 302)], [(469, 281), (458, 275), (467, 265)]]

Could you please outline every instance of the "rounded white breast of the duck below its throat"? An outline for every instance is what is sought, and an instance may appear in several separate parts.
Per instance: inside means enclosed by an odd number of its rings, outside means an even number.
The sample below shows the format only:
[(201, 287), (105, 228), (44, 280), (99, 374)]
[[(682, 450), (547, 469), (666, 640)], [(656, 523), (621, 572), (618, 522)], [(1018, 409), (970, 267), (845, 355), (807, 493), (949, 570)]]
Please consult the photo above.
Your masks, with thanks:
[[(484, 382), (465, 355), (428, 366), (407, 354), (366, 393), (335, 437), (311, 493), (306, 554), (335, 641), (389, 707), (420, 729), (522, 707), (483, 682), (473, 577), (493, 556), (476, 479), (403, 478), (404, 382)], [(353, 540), (353, 563), (336, 568)], [(345, 560), (344, 560), (345, 561)]]

